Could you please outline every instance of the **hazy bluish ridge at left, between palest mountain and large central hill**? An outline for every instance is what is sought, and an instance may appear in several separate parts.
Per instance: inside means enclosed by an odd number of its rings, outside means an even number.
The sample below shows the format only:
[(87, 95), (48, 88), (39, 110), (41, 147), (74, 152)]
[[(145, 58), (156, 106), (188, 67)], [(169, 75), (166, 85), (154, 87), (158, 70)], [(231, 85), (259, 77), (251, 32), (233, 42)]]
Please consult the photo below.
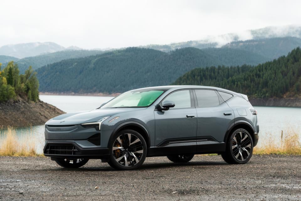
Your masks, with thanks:
[(9, 61), (15, 61), (18, 64), (20, 73), (24, 73), (29, 66), (32, 66), (32, 69), (36, 70), (47, 64), (59, 62), (64, 59), (87, 57), (87, 56), (97, 55), (102, 53), (103, 51), (100, 50), (64, 50), (60, 52), (43, 54), (35, 57), (25, 57), (20, 60), (11, 59)]

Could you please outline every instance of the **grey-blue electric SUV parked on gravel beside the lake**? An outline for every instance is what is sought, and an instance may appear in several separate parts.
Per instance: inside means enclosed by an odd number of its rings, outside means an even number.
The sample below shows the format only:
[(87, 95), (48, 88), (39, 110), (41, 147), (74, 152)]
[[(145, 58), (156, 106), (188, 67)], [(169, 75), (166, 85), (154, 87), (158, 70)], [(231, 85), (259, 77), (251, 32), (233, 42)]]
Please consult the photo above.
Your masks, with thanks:
[(125, 92), (91, 111), (45, 123), (44, 155), (67, 168), (101, 159), (132, 170), (146, 157), (188, 162), (221, 154), (230, 164), (250, 160), (258, 142), (257, 111), (246, 95), (207, 86), (159, 86)]

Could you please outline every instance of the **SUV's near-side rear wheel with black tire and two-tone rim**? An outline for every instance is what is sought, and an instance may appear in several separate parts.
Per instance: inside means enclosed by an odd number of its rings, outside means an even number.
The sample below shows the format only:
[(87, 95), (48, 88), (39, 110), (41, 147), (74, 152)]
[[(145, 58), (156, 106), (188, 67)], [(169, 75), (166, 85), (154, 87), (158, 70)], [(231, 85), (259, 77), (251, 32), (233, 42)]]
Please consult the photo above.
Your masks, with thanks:
[(253, 153), (253, 140), (248, 131), (239, 128), (229, 137), (226, 151), (222, 153), (225, 162), (229, 164), (244, 164), (248, 162)]

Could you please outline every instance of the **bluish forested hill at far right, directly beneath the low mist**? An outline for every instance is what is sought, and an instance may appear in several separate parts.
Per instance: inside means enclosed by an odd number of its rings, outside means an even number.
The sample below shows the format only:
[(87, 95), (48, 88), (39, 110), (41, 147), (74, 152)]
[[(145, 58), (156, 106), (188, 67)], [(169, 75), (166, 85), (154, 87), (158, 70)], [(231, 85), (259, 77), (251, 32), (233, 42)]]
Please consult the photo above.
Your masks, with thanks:
[(287, 55), (292, 49), (301, 46), (301, 39), (296, 37), (265, 38), (259, 40), (235, 41), (223, 47), (246, 50), (269, 59)]

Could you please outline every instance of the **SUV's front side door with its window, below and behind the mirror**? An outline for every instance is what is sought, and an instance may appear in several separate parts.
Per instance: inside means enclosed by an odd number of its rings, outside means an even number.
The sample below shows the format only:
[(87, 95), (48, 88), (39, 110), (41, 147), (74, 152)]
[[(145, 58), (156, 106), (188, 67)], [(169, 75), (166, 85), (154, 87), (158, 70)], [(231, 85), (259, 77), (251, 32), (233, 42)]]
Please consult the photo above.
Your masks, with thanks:
[(174, 102), (175, 106), (167, 111), (154, 111), (156, 148), (172, 154), (196, 152), (197, 111), (192, 90), (172, 92), (164, 100)]

